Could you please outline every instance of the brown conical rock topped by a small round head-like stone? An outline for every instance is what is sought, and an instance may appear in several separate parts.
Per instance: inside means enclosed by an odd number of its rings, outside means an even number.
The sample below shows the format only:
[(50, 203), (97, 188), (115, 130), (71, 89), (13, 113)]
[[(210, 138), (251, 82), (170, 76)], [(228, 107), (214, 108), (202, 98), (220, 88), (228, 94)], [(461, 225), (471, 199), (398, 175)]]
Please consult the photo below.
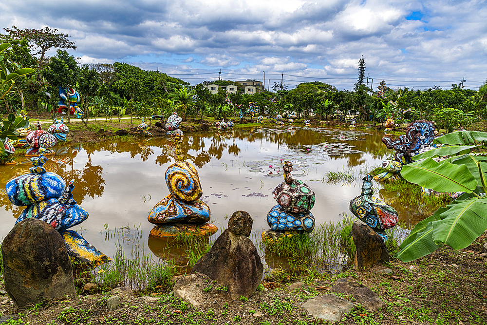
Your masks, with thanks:
[(264, 267), (261, 258), (252, 241), (245, 236), (250, 233), (249, 229), (252, 229), (250, 215), (245, 211), (233, 213), (228, 229), (192, 269), (192, 272), (206, 274), (227, 287), (233, 300), (252, 296), (262, 280)]

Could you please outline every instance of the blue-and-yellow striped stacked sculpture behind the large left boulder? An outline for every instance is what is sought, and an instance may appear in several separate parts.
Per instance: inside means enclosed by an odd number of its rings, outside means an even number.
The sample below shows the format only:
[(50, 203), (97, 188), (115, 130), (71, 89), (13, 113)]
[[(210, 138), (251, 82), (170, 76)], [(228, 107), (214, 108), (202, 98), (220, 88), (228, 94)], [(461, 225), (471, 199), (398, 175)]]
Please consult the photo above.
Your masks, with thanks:
[(68, 255), (92, 266), (109, 262), (110, 258), (90, 245), (81, 235), (69, 228), (88, 218), (81, 206), (73, 199), (73, 180), (66, 181), (43, 167), (48, 158), (42, 154), (31, 158), (30, 173), (16, 177), (5, 185), (8, 199), (14, 205), (27, 206), (17, 222), (26, 218), (36, 218), (50, 224), (66, 242)]

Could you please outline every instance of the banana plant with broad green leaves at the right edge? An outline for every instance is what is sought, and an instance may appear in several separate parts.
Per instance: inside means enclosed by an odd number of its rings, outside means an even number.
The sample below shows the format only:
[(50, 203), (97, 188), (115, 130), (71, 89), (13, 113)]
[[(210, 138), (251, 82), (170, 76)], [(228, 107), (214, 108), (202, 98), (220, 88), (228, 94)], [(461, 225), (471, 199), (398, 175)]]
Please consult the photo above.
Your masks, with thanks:
[[(397, 258), (418, 259), (443, 245), (464, 249), (487, 229), (487, 157), (472, 153), (486, 149), (487, 133), (458, 131), (443, 135), (434, 143), (445, 144), (414, 157), (401, 175), (409, 182), (439, 192), (465, 193), (433, 215), (419, 222), (399, 246)], [(432, 157), (450, 155), (436, 162)], [(423, 159), (423, 160), (419, 160)]]

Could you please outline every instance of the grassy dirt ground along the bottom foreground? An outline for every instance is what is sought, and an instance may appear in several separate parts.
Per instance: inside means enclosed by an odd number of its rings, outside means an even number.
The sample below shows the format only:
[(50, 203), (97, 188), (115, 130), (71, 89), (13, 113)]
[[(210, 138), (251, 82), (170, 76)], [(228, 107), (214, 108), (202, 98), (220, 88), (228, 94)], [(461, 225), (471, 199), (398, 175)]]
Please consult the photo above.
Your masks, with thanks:
[[(83, 292), (78, 287), (76, 300), (19, 310), (0, 288), (0, 313), (18, 318), (7, 324), (33, 325), (321, 324), (321, 320), (300, 306), (311, 297), (326, 294), (337, 278), (351, 277), (375, 291), (385, 307), (374, 313), (355, 302), (354, 309), (340, 324), (485, 325), (487, 258), (481, 254), (487, 252), (486, 243), (487, 232), (467, 249), (455, 251), (445, 247), (411, 263), (392, 259), (387, 265), (336, 275), (313, 272), (289, 275), (278, 271), (266, 277), (263, 289), (248, 300), (228, 302), (222, 298), (224, 293), (212, 289), (208, 292), (208, 306), (201, 308), (174, 298), (172, 292), (167, 292), (171, 289), (168, 287), (159, 288), (160, 292), (136, 292), (137, 297), (120, 295), (120, 307), (109, 311), (108, 291)], [(392, 273), (387, 274), (385, 268)], [(288, 291), (287, 287), (297, 281), (308, 287)], [(159, 299), (146, 302), (143, 299), (147, 297)], [(351, 297), (343, 297), (354, 302)]]

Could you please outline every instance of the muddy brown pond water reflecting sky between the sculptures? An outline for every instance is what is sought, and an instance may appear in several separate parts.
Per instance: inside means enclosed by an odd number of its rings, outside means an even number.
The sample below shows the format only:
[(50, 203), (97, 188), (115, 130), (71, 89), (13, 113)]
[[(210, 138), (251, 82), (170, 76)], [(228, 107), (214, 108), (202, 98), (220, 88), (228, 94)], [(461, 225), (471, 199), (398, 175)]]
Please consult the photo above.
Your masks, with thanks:
[[(213, 223), (223, 230), (227, 217), (234, 211), (247, 211), (254, 220), (251, 239), (259, 247), (260, 233), (269, 229), (267, 212), (276, 205), (272, 190), (283, 181), (283, 161), (290, 160), (294, 164), (293, 177), (315, 191), (316, 204), (311, 212), (316, 225), (337, 222), (343, 213), (350, 213), (348, 202), (360, 194), (361, 178), (392, 153), (382, 144), (382, 136), (380, 132), (333, 128), (236, 129), (187, 134), (182, 152), (199, 172), (201, 199), (209, 205)], [(164, 173), (174, 162), (172, 139), (73, 144), (55, 150), (56, 155), (45, 164), (46, 169), (66, 180), (74, 179), (74, 198), (90, 213), (74, 229), (81, 230), (86, 240), (112, 256), (120, 245), (120, 235), (107, 236), (105, 228), (129, 226), (132, 230), (126, 229), (121, 235), (124, 249), (159, 255), (165, 244), (154, 238), (148, 240), (153, 225), (147, 216), (169, 194)], [(16, 166), (0, 166), (1, 239), (23, 210), (9, 202), (5, 184), (29, 172), (32, 166), (26, 158), (16, 160), (19, 162)], [(326, 176), (329, 171), (346, 172), (353, 179), (330, 183)], [(396, 193), (383, 193), (379, 189), (376, 184), (376, 195), (382, 199), (385, 196), (398, 210), (401, 220), (414, 222), (424, 217), (414, 209), (394, 204)], [(220, 233), (210, 240), (214, 241)], [(262, 250), (261, 253), (263, 256)]]

